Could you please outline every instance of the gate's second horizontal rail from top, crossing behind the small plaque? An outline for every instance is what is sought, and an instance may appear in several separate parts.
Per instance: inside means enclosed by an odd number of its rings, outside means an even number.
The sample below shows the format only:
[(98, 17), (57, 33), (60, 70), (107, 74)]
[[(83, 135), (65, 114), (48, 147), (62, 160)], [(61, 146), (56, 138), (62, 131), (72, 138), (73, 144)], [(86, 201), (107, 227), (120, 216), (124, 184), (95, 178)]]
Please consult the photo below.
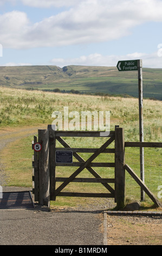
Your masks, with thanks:
[[(73, 153), (95, 153), (97, 149), (90, 149), (90, 148), (56, 148), (56, 150), (63, 150), (63, 151), (73, 151)], [(115, 153), (115, 149), (105, 149), (102, 153)], [(102, 154), (101, 153), (101, 154)]]

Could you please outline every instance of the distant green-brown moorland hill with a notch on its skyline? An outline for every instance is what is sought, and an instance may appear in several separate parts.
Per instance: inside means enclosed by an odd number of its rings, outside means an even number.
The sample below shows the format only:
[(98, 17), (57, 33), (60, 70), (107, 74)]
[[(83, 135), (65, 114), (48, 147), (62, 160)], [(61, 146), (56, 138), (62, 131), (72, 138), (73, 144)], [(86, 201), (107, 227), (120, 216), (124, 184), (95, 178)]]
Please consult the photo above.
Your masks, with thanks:
[[(144, 97), (162, 100), (162, 69), (142, 70)], [(107, 66), (1, 66), (0, 86), (138, 97), (138, 73)]]

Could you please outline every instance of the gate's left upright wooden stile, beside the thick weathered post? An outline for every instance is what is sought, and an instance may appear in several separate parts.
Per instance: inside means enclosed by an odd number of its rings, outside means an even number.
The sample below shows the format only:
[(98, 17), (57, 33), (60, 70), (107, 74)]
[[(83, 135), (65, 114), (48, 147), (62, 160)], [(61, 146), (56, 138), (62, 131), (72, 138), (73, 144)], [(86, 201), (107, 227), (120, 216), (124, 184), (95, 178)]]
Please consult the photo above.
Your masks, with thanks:
[(52, 130), (51, 125), (48, 125), (49, 130), (49, 174), (50, 174), (50, 200), (55, 201), (55, 187), (56, 187), (56, 137), (55, 131)]

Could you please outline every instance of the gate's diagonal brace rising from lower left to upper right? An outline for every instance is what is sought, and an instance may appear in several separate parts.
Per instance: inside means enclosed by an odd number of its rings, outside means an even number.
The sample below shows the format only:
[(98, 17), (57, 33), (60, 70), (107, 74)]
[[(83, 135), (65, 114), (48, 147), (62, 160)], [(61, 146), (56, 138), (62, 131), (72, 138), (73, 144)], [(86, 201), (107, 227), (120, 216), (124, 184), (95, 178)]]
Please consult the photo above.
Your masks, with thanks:
[(95, 151), (95, 153), (89, 157), (88, 160), (86, 160), (72, 175), (69, 176), (69, 178), (64, 181), (59, 187), (57, 187), (55, 194), (60, 193), (61, 190), (63, 190), (64, 187), (66, 187), (69, 182), (71, 182), (83, 169), (87, 168), (89, 163), (91, 163), (104, 149), (108, 147), (109, 144), (111, 144), (114, 141), (114, 136), (108, 139), (107, 142), (105, 142), (98, 150)]

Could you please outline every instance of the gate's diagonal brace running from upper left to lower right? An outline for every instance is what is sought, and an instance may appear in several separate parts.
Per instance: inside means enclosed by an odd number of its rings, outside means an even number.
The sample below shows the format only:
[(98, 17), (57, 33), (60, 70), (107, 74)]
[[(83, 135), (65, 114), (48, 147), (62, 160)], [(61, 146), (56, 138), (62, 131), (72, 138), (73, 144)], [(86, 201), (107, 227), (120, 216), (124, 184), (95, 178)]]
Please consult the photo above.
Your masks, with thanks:
[[(63, 147), (65, 148), (71, 148), (70, 145), (65, 142), (61, 137), (56, 137), (57, 141), (59, 141)], [(79, 162), (85, 162), (85, 160), (77, 153), (73, 153), (74, 157), (79, 161)], [(96, 173), (96, 171), (92, 168), (92, 167), (86, 167), (87, 170), (89, 170), (89, 172), (95, 176), (95, 178), (102, 178), (98, 173)], [(111, 193), (114, 193), (114, 190), (111, 186), (109, 186), (107, 183), (101, 183), (103, 186), (105, 186), (107, 188), (107, 190)]]

